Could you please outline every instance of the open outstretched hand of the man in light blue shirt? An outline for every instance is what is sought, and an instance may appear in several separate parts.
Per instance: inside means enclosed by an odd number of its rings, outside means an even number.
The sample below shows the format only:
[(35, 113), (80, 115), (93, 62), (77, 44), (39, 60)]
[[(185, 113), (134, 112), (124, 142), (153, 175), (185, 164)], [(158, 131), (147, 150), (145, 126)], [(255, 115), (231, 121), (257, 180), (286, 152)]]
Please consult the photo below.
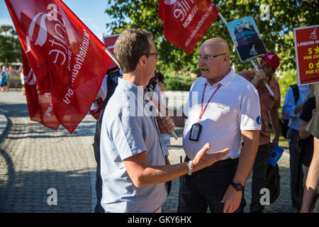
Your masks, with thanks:
[(198, 151), (193, 160), (193, 172), (213, 165), (213, 163), (219, 161), (220, 158), (224, 157), (230, 152), (229, 148), (225, 148), (224, 150), (208, 154), (207, 151), (209, 150), (209, 148), (211, 148), (211, 145), (209, 143), (206, 143), (203, 148)]

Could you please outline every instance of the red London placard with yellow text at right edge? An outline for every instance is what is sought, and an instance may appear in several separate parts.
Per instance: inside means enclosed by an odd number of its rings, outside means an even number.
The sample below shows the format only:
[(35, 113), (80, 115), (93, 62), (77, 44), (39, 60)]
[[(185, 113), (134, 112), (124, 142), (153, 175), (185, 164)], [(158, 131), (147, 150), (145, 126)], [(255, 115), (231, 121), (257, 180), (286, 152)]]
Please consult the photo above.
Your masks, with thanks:
[(298, 84), (319, 82), (319, 26), (293, 28)]

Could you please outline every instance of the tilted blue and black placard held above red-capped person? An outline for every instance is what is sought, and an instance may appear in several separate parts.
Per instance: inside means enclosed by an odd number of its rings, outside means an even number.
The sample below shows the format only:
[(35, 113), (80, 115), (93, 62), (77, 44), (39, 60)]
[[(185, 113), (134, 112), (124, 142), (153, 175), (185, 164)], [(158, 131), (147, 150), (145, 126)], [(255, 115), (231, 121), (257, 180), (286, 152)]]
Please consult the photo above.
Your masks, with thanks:
[(229, 22), (228, 31), (241, 62), (267, 54), (262, 36), (252, 16)]

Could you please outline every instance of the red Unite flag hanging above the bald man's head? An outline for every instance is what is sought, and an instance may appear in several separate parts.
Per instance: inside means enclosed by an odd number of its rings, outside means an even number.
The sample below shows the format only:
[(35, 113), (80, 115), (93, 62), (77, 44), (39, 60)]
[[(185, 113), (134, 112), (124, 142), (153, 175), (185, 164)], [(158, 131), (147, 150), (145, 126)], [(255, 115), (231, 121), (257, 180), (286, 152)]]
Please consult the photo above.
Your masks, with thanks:
[(218, 16), (210, 0), (159, 0), (164, 38), (189, 54)]

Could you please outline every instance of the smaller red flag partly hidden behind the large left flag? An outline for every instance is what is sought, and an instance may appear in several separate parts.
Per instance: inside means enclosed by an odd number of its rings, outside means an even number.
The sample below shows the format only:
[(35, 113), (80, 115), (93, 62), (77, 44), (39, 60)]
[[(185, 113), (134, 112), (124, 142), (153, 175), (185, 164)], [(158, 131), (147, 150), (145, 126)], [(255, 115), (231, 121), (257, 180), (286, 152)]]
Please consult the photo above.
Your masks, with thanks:
[(36, 77), (30, 67), (25, 52), (22, 50), (24, 87), (26, 88), (26, 99), (28, 111), (32, 121), (38, 121), (49, 128), (57, 129), (60, 126), (52, 109), (51, 94), (39, 94)]

